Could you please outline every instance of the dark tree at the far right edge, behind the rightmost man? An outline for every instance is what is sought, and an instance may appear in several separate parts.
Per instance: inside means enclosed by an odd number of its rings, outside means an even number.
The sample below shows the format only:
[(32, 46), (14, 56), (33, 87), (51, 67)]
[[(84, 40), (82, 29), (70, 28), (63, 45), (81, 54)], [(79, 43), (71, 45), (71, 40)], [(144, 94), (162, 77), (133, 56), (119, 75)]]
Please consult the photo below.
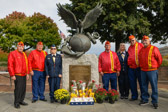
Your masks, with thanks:
[(160, 41), (160, 44), (165, 44), (168, 39), (168, 2), (166, 0), (152, 0), (150, 2), (143, 0), (142, 5), (145, 9), (144, 15), (151, 23), (152, 41)]

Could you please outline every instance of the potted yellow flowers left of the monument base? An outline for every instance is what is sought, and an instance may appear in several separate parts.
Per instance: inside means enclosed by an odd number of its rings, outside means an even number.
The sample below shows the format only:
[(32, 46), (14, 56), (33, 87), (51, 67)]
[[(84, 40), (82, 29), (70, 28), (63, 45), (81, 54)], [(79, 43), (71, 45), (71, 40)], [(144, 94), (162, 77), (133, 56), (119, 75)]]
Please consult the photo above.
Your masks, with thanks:
[(69, 92), (66, 89), (58, 89), (54, 92), (54, 97), (56, 100), (60, 100), (61, 104), (65, 104), (70, 98)]

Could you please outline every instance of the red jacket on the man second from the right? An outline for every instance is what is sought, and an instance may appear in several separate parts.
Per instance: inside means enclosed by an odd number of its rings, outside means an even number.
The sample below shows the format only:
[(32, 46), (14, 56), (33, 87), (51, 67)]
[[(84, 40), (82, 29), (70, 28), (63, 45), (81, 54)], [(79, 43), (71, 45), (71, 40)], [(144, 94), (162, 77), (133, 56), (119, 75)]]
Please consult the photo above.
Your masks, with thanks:
[(143, 44), (136, 42), (134, 45), (130, 45), (128, 48), (128, 66), (130, 68), (139, 67), (139, 51), (143, 47)]

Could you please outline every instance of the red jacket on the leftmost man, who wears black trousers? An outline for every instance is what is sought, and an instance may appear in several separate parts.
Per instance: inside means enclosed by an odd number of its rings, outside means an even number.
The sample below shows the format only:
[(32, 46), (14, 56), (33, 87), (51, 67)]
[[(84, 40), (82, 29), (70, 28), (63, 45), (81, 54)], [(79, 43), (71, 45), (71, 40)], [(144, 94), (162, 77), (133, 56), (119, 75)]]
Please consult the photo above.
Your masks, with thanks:
[(28, 60), (24, 52), (12, 51), (8, 55), (8, 71), (10, 76), (29, 74)]

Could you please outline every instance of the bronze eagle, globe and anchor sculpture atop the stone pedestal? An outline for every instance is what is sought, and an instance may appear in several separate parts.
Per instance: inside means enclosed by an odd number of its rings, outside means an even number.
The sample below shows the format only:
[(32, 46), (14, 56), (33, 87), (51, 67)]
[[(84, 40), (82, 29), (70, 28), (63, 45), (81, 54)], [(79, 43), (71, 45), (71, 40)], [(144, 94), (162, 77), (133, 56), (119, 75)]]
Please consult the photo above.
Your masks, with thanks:
[(102, 4), (98, 3), (94, 9), (90, 10), (83, 21), (80, 19), (77, 20), (75, 15), (61, 4), (56, 5), (61, 19), (64, 20), (69, 27), (76, 30), (74, 35), (69, 36), (64, 40), (61, 51), (69, 56), (80, 57), (90, 49), (91, 42), (96, 44), (96, 39), (99, 38), (97, 32), (84, 33), (83, 30), (89, 28), (96, 22), (102, 12)]

